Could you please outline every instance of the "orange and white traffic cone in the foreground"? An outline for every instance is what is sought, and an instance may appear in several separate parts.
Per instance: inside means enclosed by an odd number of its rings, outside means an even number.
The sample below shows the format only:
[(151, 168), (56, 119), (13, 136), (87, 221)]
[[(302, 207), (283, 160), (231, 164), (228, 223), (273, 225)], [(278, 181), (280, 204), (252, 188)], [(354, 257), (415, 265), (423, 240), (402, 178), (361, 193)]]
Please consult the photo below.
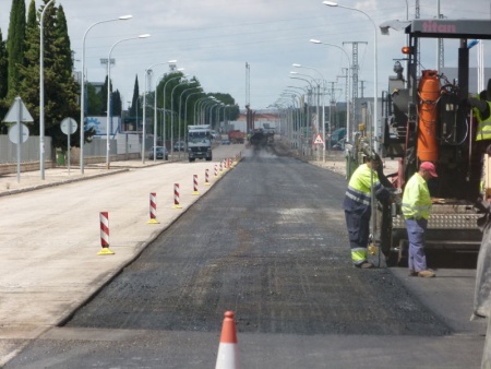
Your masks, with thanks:
[(233, 311), (226, 311), (215, 369), (239, 369), (236, 322)]

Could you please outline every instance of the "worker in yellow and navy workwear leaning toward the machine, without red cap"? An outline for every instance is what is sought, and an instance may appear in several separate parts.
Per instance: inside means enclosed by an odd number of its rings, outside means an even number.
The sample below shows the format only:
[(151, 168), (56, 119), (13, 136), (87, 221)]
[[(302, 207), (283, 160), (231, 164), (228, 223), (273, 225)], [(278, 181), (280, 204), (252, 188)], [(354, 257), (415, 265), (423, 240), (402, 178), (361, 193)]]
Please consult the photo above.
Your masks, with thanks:
[(361, 269), (373, 267), (373, 264), (367, 260), (372, 214), (371, 191), (374, 191), (378, 200), (386, 200), (391, 197), (390, 191), (379, 180), (376, 169), (380, 166), (381, 159), (378, 155), (373, 158), (368, 156), (367, 163), (360, 165), (352, 174), (343, 203), (351, 261), (355, 266)]

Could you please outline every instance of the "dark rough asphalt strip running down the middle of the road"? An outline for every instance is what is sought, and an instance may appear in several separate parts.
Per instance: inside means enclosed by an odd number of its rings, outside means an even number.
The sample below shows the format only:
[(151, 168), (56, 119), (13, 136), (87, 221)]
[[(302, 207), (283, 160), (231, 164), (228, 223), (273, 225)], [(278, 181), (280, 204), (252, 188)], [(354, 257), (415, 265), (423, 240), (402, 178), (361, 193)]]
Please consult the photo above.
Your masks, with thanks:
[(67, 325), (446, 335), (386, 267), (351, 266), (342, 175), (274, 152), (246, 156)]

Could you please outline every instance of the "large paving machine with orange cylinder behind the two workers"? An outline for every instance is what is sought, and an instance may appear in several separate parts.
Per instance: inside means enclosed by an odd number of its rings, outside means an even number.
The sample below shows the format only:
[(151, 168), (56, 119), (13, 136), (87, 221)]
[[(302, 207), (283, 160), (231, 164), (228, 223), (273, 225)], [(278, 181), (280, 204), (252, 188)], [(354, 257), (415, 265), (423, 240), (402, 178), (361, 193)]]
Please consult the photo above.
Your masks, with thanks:
[[(476, 143), (477, 121), (467, 105), (471, 43), (491, 39), (488, 20), (414, 20), (405, 27), (409, 44), (405, 59), (395, 62), (395, 76), (382, 96), (382, 157), (398, 158), (398, 170), (388, 174), (395, 188), (405, 183), (421, 162), (436, 165), (439, 177), (430, 180), (433, 199), (427, 248), (477, 251), (482, 234), (479, 204), (491, 197), (488, 155)], [(427, 38), (458, 43), (458, 76), (454, 81), (435, 70), (420, 72), (419, 55)], [(420, 48), (420, 49), (419, 49)], [(434, 52), (434, 47), (431, 48)], [(407, 63), (404, 76), (403, 63)], [(478, 92), (474, 91), (472, 95)], [(491, 94), (490, 94), (491, 97)], [(488, 142), (488, 143), (491, 143)], [(490, 166), (491, 168), (491, 166)], [(374, 241), (390, 263), (405, 263), (407, 231), (400, 202), (378, 204)]]

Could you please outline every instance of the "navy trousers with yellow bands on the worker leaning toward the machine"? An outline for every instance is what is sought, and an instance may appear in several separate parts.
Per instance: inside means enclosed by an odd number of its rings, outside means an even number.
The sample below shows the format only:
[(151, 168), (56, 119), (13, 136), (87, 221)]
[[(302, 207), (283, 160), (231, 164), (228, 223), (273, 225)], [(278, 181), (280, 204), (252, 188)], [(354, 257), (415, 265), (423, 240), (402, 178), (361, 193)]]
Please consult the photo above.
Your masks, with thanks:
[(345, 210), (346, 226), (349, 235), (349, 248), (354, 264), (367, 261), (367, 247), (370, 234), (370, 214)]

